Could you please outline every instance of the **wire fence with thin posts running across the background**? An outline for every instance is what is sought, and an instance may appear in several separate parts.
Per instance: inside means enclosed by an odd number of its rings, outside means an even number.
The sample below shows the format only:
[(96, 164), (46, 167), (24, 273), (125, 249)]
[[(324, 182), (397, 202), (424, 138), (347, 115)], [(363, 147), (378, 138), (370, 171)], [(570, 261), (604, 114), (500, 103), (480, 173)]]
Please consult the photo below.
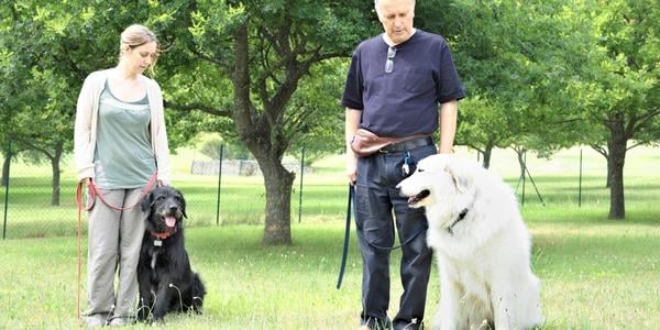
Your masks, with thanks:
[[(660, 191), (659, 177), (648, 170), (648, 163), (657, 166), (658, 150), (642, 153), (641, 161), (627, 160), (626, 199), (638, 202), (654, 198)], [(304, 152), (302, 152), (304, 155)], [(472, 157), (473, 153), (469, 155)], [(505, 176), (516, 190), (521, 207), (527, 205), (562, 207), (597, 207), (605, 213), (608, 190), (605, 187), (606, 163), (594, 152), (571, 151), (558, 160), (531, 160), (525, 176), (515, 156), (492, 161), (491, 168)], [(69, 165), (72, 156), (62, 160), (59, 183), (53, 182), (48, 163), (29, 163), (21, 157), (3, 157), (0, 210), (2, 239), (76, 235), (76, 179)], [(263, 224), (265, 219), (265, 188), (258, 166), (253, 161), (218, 160), (178, 155), (173, 186), (182, 190), (187, 201), (186, 226)], [(183, 161), (182, 161), (183, 158)], [(630, 164), (631, 165), (628, 165)], [(654, 165), (652, 165), (654, 164)], [(343, 161), (329, 166), (302, 162), (284, 164), (296, 173), (290, 196), (292, 223), (305, 221), (341, 221), (345, 216), (346, 185), (342, 174)], [(584, 172), (584, 173), (583, 173)], [(639, 176), (640, 174), (647, 175)], [(651, 175), (649, 177), (648, 175)], [(59, 194), (59, 198), (53, 198)], [(55, 201), (57, 201), (55, 204)], [(87, 232), (87, 217), (82, 213), (82, 232)]]

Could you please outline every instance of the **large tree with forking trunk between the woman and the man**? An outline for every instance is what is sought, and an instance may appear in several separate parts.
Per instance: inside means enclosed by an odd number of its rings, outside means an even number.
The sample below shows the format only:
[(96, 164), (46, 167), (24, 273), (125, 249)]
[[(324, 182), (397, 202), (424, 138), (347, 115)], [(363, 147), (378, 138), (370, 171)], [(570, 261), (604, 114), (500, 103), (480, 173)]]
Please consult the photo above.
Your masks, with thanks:
[[(170, 86), (187, 86), (172, 94), (167, 107), (229, 120), (232, 127), (224, 127), (223, 133), (235, 134), (264, 175), (263, 242), (289, 244), (294, 174), (282, 165), (283, 155), (301, 135), (328, 131), (322, 124), (328, 114), (322, 113), (341, 111), (322, 107), (324, 101), (316, 106), (312, 94), (298, 90), (311, 92), (309, 86), (322, 82), (309, 78), (315, 70), (334, 77), (319, 65), (350, 55), (361, 38), (377, 29), (370, 26), (370, 18), (375, 18), (373, 3), (245, 0), (227, 6), (187, 2), (177, 10), (179, 21), (154, 22), (168, 34), (170, 53), (185, 57), (167, 66)], [(326, 97), (338, 100), (340, 95)]]

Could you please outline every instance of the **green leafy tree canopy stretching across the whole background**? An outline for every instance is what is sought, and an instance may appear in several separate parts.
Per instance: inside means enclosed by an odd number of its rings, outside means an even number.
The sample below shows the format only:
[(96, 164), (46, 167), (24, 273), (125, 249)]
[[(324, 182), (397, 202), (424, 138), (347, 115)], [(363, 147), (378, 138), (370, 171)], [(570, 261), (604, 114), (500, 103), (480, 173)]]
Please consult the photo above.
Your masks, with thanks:
[[(418, 1), (415, 20), (447, 38), (468, 90), (458, 144), (542, 156), (590, 144), (623, 172), (626, 150), (660, 141), (659, 11), (649, 0), (432, 0)], [(116, 65), (119, 34), (132, 23), (162, 42), (155, 78), (172, 150), (199, 132), (240, 142), (277, 191), (268, 200), (290, 194), (285, 155), (305, 150), (315, 161), (343, 148), (337, 102), (348, 56), (381, 32), (373, 1), (8, 3), (0, 139), (52, 162), (69, 152), (81, 81)], [(284, 208), (268, 210), (285, 218)]]

